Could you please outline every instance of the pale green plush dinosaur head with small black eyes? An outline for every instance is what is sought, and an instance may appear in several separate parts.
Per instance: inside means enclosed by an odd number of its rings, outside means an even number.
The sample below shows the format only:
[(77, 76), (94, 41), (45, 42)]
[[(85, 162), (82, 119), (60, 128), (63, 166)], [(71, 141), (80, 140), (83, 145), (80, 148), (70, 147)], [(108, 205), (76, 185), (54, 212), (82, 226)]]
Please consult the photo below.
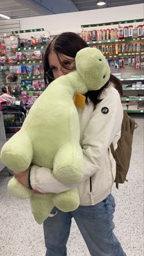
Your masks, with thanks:
[(88, 90), (98, 90), (110, 78), (110, 68), (103, 53), (96, 48), (84, 48), (76, 54), (76, 70)]

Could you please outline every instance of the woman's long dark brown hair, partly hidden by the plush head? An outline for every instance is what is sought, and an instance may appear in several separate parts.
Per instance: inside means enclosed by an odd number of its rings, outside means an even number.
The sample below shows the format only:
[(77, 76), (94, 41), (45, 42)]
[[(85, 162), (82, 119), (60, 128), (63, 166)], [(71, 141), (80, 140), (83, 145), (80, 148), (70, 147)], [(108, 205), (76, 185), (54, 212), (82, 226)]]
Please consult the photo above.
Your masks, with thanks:
[[(43, 60), (43, 65), (44, 65), (44, 79), (45, 79), (45, 84), (48, 86), (53, 80), (49, 78), (46, 75), (46, 72), (49, 70), (49, 62), (48, 62), (48, 55), (51, 51), (55, 51), (57, 56), (59, 57), (59, 54), (64, 54), (69, 57), (76, 57), (76, 54), (78, 51), (81, 49), (88, 47), (87, 43), (79, 37), (76, 33), (73, 32), (64, 32), (60, 35), (57, 35), (52, 39), (52, 41), (49, 43), (48, 47), (46, 48), (45, 51), (45, 56)], [(109, 86), (109, 82), (112, 82), (115, 86), (115, 89), (118, 90), (120, 93), (120, 96), (123, 95), (123, 89), (122, 89), (122, 83), (121, 81), (113, 76), (112, 74), (110, 75), (109, 81), (104, 84), (104, 86), (99, 89), (99, 90), (92, 90), (88, 91), (85, 93), (86, 96), (86, 103), (88, 104), (88, 98), (93, 102), (93, 104), (97, 104), (99, 101), (98, 97), (101, 94), (101, 92)]]

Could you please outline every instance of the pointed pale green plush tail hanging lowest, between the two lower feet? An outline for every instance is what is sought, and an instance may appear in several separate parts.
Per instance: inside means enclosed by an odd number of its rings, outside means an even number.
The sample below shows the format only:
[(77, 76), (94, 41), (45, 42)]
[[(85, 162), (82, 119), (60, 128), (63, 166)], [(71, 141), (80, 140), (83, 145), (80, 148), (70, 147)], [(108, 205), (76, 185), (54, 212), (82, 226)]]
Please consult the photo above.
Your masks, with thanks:
[(52, 198), (53, 194), (32, 194), (30, 198), (31, 210), (38, 224), (42, 224), (54, 208)]

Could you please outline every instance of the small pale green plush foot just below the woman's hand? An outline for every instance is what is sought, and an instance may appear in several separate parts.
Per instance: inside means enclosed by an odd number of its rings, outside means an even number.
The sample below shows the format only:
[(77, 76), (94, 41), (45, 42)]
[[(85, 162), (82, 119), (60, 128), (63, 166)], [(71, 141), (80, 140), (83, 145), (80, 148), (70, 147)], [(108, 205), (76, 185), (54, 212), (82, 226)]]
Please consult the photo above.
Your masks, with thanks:
[(14, 196), (18, 199), (28, 199), (31, 197), (32, 194), (30, 189), (26, 188), (26, 186), (21, 185), (14, 177), (9, 181), (7, 189), (11, 196)]

